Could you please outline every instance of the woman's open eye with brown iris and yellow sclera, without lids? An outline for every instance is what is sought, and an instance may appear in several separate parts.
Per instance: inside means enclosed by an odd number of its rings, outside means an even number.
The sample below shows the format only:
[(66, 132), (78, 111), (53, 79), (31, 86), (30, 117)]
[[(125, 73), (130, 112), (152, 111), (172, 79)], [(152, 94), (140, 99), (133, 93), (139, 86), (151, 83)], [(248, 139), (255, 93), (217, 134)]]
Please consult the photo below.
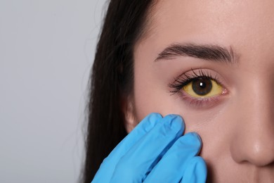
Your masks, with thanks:
[(223, 93), (223, 87), (216, 81), (198, 77), (183, 87), (183, 91), (195, 98), (207, 98)]

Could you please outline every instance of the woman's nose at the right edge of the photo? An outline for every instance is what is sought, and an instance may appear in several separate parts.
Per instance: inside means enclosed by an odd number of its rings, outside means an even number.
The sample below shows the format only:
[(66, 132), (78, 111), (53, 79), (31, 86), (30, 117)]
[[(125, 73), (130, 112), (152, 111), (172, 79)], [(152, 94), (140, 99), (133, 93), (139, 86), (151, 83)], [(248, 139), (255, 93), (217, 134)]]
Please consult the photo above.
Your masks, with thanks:
[(232, 158), (257, 167), (273, 164), (274, 97), (267, 89), (252, 90), (240, 95), (239, 101), (233, 117), (236, 123), (230, 144)]

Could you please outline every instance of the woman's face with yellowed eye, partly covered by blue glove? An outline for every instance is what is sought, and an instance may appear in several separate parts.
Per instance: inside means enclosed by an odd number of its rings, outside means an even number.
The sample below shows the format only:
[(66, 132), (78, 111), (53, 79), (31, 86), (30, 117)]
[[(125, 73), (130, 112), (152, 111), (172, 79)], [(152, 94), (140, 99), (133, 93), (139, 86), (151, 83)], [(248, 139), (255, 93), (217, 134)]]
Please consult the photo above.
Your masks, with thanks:
[(274, 182), (274, 1), (159, 1), (148, 18), (134, 50), (137, 120), (181, 115), (210, 181)]

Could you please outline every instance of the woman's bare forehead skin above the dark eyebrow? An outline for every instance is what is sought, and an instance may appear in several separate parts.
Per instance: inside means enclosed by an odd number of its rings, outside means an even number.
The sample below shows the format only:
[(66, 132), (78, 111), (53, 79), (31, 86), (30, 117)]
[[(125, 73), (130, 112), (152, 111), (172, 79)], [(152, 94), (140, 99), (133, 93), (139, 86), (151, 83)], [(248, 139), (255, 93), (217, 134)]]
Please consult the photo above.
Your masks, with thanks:
[(153, 59), (170, 44), (194, 42), (233, 46), (244, 60), (258, 64), (262, 56), (274, 59), (272, 0), (159, 0), (148, 23), (147, 34), (136, 44), (136, 58), (150, 51), (146, 56)]

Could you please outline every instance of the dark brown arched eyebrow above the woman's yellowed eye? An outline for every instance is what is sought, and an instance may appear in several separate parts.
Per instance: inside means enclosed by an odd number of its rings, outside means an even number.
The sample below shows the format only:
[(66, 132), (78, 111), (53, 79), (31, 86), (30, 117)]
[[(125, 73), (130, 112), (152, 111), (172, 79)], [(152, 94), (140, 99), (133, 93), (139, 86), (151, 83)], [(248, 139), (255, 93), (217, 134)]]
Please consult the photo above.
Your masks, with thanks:
[(236, 63), (235, 51), (216, 44), (171, 44), (160, 52), (155, 61), (172, 60), (178, 56), (190, 56), (207, 61), (221, 63)]

